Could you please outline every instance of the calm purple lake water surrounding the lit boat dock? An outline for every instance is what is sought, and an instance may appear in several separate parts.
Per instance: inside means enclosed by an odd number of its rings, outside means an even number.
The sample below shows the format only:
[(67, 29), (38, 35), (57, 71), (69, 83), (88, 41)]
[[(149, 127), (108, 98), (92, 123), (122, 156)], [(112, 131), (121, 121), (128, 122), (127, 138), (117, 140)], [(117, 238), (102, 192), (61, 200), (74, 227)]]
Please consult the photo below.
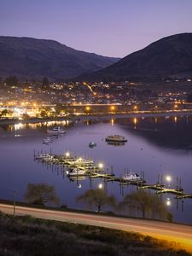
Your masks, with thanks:
[[(59, 124), (59, 123), (55, 123)], [(172, 177), (171, 187), (176, 187), (177, 177), (181, 178), (186, 193), (192, 193), (192, 118), (164, 117), (145, 119), (84, 120), (75, 123), (61, 122), (67, 133), (49, 145), (42, 143), (47, 137), (46, 129), (50, 124), (3, 125), (0, 127), (2, 199), (13, 200), (14, 191), (18, 201), (24, 201), (27, 183), (49, 183), (55, 186), (61, 204), (67, 207), (83, 208), (75, 198), (85, 190), (96, 188), (103, 180), (89, 178), (71, 182), (62, 174), (61, 167), (42, 165), (33, 160), (34, 149), (54, 154), (63, 154), (67, 150), (79, 156), (89, 156), (96, 163), (102, 162), (108, 170), (113, 169), (117, 177), (125, 170), (144, 172), (148, 183), (156, 183), (158, 174), (163, 183), (166, 175)], [(110, 134), (120, 134), (128, 139), (123, 146), (108, 145), (104, 138)], [(96, 142), (96, 148), (88, 144)], [(79, 186), (79, 184), (81, 186)], [(123, 199), (119, 183), (104, 184), (108, 193)], [(79, 188), (81, 187), (81, 188)], [(134, 186), (125, 186), (124, 195), (134, 191)], [(170, 211), (173, 219), (192, 224), (192, 199), (176, 201), (170, 198)]]

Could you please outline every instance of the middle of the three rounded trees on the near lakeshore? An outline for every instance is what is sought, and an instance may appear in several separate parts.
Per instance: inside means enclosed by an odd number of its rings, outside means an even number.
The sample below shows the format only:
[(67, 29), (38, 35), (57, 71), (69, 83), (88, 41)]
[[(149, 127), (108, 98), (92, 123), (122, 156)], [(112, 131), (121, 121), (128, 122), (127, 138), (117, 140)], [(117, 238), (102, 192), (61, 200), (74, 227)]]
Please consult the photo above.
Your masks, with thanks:
[(76, 200), (84, 202), (89, 207), (95, 206), (98, 212), (102, 212), (102, 207), (106, 205), (115, 207), (114, 196), (108, 195), (103, 189), (89, 189), (83, 195), (79, 195)]

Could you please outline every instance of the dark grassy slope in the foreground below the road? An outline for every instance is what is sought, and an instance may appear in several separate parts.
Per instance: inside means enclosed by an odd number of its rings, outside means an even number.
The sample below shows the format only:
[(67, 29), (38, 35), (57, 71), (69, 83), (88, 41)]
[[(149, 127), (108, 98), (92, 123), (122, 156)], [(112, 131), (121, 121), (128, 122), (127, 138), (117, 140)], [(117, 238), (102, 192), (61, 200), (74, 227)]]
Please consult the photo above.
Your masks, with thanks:
[(0, 255), (187, 256), (174, 244), (149, 236), (90, 225), (0, 214)]

